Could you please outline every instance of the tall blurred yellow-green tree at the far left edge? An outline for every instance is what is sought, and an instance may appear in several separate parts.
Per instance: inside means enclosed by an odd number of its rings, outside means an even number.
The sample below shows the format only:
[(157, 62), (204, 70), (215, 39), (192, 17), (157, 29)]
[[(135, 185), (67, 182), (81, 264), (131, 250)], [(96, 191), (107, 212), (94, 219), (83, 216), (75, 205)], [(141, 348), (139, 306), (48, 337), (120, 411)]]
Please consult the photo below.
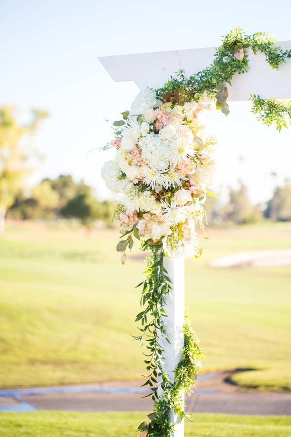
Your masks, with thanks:
[[(40, 155), (33, 149), (31, 137), (39, 121), (48, 114), (32, 110), (30, 124), (21, 126), (14, 116), (14, 108), (0, 108), (0, 235), (5, 229), (7, 208), (23, 188)], [(33, 162), (34, 160), (34, 162)]]

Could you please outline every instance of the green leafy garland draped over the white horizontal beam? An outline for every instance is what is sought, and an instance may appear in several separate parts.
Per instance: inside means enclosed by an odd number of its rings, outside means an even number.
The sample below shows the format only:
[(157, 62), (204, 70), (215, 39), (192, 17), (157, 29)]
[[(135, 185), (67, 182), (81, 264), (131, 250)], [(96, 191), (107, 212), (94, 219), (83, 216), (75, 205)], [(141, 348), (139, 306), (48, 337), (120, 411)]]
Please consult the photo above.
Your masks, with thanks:
[[(216, 100), (216, 109), (226, 116), (229, 107), (227, 84), (236, 73), (243, 74), (249, 70), (247, 49), (255, 54), (258, 51), (266, 56), (267, 63), (275, 69), (291, 58), (291, 50), (281, 50), (275, 46), (275, 39), (269, 38), (264, 32), (246, 35), (242, 29), (234, 29), (223, 39), (223, 44), (215, 51), (215, 58), (210, 67), (204, 68), (186, 78), (183, 70), (179, 70), (176, 77), (171, 76), (164, 86), (157, 91), (157, 96), (163, 101), (199, 101), (203, 95)], [(267, 125), (275, 124), (278, 131), (287, 128), (286, 117), (291, 121), (291, 106), (275, 100), (262, 100), (259, 96), (251, 96), (252, 112), (259, 114), (258, 119)]]

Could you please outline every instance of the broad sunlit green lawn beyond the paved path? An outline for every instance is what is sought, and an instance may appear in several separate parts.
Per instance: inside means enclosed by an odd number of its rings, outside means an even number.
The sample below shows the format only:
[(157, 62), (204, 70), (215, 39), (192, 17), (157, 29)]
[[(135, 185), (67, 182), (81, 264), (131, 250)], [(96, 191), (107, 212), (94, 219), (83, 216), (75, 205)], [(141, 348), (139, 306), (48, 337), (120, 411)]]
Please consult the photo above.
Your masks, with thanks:
[[(291, 389), (290, 268), (215, 269), (233, 252), (291, 248), (291, 224), (207, 230), (186, 261), (186, 305), (207, 352), (204, 372), (256, 369), (233, 381)], [(139, 378), (136, 335), (143, 252), (125, 266), (117, 231), (16, 224), (0, 239), (0, 387)], [(73, 434), (72, 434), (73, 435)]]

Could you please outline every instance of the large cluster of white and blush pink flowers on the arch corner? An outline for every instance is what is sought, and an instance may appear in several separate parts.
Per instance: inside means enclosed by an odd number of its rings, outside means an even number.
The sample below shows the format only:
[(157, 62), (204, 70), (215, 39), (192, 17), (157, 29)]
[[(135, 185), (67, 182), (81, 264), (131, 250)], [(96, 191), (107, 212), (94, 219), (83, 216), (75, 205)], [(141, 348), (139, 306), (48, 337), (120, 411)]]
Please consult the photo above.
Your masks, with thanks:
[(115, 218), (122, 252), (132, 245), (132, 234), (148, 243), (162, 242), (168, 256), (199, 256), (196, 226), (203, 227), (203, 203), (214, 170), (215, 139), (207, 135), (200, 114), (210, 105), (195, 101), (182, 106), (157, 100), (156, 92), (141, 91), (125, 120), (115, 122), (111, 145), (116, 158), (102, 176), (108, 188), (123, 195)]

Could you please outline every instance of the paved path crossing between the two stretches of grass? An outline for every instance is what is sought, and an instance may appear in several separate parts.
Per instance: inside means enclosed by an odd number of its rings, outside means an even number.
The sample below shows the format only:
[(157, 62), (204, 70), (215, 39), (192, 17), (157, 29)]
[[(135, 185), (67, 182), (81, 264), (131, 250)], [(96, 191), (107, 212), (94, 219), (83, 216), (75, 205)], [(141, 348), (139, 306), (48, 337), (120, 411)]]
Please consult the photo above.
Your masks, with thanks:
[[(239, 392), (227, 384), (230, 373), (198, 378), (195, 393), (186, 397), (193, 413), (291, 415), (291, 393)], [(143, 381), (111, 382), (70, 387), (0, 390), (0, 412), (55, 411), (152, 411)]]

